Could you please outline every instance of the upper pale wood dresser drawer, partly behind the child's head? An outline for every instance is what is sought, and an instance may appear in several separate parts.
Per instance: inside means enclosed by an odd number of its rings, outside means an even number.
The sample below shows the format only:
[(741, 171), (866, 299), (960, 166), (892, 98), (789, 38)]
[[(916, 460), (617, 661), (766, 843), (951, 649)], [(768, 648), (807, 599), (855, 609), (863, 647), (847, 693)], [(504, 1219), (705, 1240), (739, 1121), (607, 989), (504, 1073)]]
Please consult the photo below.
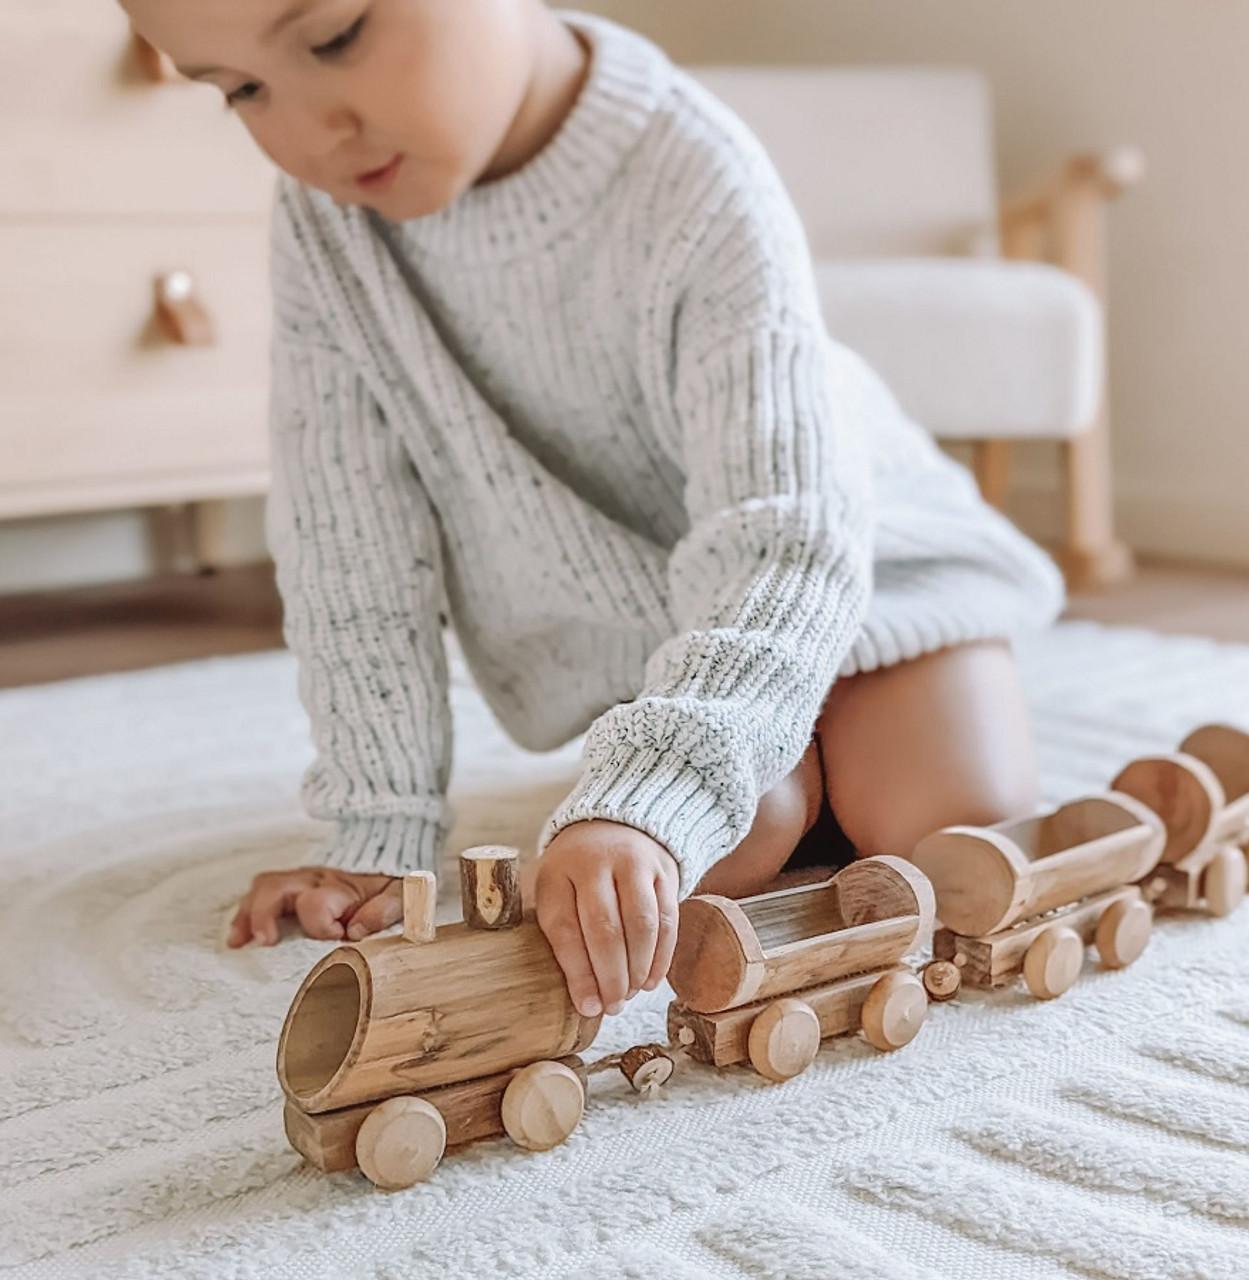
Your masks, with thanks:
[(273, 164), (221, 95), (155, 83), (115, 0), (0, 5), (0, 216), (257, 215)]

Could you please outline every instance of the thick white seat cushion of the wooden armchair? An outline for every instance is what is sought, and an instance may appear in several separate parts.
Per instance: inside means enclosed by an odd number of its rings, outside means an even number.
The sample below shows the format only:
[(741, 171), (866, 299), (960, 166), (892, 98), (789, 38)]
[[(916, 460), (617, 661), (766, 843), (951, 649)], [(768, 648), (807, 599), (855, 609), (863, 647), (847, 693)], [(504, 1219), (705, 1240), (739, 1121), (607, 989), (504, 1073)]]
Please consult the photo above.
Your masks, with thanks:
[(828, 332), (943, 439), (1078, 435), (1102, 388), (1102, 312), (1040, 262), (820, 262)]

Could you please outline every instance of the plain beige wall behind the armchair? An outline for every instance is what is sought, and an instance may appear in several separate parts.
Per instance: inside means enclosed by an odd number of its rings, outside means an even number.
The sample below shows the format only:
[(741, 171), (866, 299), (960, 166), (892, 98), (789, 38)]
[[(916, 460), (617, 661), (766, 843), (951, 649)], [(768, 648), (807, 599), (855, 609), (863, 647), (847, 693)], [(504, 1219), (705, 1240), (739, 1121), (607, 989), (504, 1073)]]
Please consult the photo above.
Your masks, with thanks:
[[(1133, 545), (1249, 564), (1245, 0), (586, 0), (683, 63), (985, 70), (1007, 192), (1067, 152), (1139, 145), (1111, 219), (1110, 394)], [(1017, 507), (1056, 520), (1052, 451)], [(1030, 492), (1026, 492), (1030, 490)]]

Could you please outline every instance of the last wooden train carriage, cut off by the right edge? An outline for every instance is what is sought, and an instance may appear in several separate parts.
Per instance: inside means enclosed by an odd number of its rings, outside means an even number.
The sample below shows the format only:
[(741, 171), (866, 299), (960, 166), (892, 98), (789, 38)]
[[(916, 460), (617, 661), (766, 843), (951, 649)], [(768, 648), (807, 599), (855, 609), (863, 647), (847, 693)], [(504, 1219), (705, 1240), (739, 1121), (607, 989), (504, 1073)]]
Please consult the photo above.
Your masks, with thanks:
[(1167, 828), (1159, 865), (1145, 882), (1154, 906), (1230, 915), (1249, 878), (1249, 733), (1204, 724), (1179, 753), (1133, 760), (1113, 786)]

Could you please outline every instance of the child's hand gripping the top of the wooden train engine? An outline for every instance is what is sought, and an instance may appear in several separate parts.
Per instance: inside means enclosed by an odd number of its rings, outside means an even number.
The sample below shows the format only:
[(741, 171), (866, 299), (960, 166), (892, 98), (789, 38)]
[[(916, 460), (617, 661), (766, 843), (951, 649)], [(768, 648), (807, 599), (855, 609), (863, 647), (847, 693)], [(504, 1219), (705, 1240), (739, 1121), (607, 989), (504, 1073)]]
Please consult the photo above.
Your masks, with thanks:
[(677, 945), (677, 863), (618, 822), (566, 827), (537, 861), (537, 923), (578, 1012), (618, 1014), (654, 991)]

